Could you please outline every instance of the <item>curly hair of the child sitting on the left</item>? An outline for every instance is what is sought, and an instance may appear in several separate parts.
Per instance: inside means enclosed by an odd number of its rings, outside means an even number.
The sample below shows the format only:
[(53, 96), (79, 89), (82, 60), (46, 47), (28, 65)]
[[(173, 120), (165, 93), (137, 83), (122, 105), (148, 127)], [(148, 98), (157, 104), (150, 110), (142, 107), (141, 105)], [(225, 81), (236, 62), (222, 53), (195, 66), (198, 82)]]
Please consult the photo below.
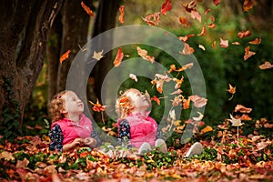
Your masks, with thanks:
[(64, 108), (66, 90), (56, 94), (48, 105), (49, 116), (51, 117), (52, 123), (65, 118), (65, 114), (61, 112)]

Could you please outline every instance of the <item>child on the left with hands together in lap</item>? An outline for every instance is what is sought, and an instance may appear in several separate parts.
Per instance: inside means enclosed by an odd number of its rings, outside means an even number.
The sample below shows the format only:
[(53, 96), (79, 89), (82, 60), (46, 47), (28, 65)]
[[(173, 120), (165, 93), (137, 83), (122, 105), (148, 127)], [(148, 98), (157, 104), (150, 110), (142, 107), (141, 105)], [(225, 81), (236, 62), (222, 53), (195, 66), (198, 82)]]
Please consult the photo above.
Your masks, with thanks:
[(66, 152), (76, 147), (96, 147), (100, 138), (84, 114), (84, 103), (75, 92), (65, 90), (54, 96), (49, 105), (52, 117), (50, 150)]

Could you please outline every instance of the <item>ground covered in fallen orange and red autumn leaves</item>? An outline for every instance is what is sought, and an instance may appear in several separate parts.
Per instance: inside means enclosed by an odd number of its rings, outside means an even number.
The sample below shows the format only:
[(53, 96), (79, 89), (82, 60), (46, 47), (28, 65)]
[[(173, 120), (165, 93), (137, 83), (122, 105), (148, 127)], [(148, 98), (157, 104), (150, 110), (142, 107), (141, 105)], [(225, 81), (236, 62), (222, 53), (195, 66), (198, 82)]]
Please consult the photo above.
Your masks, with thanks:
[[(272, 181), (271, 125), (264, 119), (241, 126), (239, 139), (236, 127), (228, 121), (213, 130), (203, 129), (194, 136), (203, 144), (203, 153), (192, 158), (184, 157), (190, 143), (169, 147), (167, 154), (153, 150), (142, 157), (116, 147), (109, 157), (88, 148), (67, 153), (48, 151), (47, 136), (18, 136), (13, 142), (2, 138), (0, 180)], [(254, 131), (244, 136), (242, 128), (249, 126)], [(268, 136), (262, 131), (268, 131)], [(107, 144), (103, 147), (106, 151)]]

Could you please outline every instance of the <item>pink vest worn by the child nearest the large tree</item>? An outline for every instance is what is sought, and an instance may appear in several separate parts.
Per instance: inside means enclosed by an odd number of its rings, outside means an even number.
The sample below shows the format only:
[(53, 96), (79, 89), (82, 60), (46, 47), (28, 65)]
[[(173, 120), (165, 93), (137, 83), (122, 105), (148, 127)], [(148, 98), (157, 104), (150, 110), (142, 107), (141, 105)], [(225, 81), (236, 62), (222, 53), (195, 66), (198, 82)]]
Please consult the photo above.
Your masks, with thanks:
[(77, 137), (90, 137), (93, 130), (91, 120), (84, 114), (81, 115), (78, 123), (63, 118), (62, 120), (54, 122), (51, 125), (51, 129), (56, 126), (56, 124), (62, 129), (64, 135), (63, 145), (72, 143)]

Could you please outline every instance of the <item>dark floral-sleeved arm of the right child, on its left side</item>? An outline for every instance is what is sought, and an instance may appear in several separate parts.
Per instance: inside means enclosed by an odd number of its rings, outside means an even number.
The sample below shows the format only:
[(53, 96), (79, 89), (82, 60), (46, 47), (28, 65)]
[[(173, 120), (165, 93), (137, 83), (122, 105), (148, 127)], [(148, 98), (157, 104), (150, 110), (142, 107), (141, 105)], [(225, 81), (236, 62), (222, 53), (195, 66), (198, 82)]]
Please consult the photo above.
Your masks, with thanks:
[(129, 140), (131, 139), (130, 125), (129, 122), (123, 120), (120, 122), (118, 127), (118, 145), (128, 145)]

